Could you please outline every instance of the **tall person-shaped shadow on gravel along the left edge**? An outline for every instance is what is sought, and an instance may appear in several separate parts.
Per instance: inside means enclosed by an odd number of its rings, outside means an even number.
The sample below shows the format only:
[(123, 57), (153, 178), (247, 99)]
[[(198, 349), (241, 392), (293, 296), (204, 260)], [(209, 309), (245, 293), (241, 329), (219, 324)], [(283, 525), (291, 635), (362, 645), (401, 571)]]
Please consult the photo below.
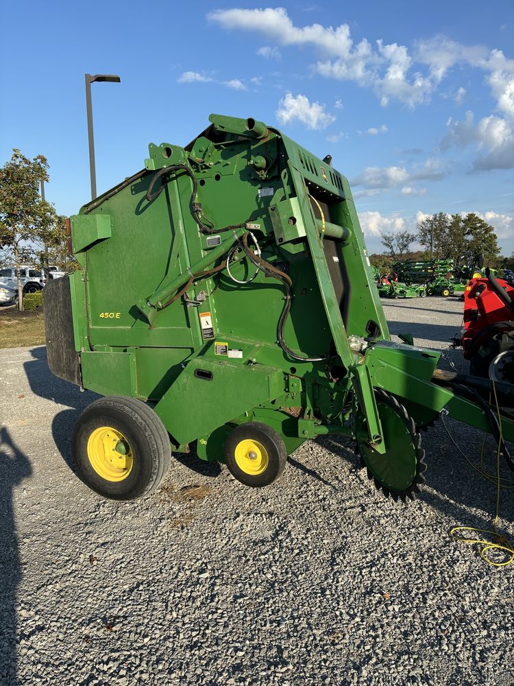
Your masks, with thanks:
[(12, 488), (32, 474), (30, 462), (0, 429), (0, 683), (18, 686), (16, 678), (16, 591), (21, 565), (12, 509)]

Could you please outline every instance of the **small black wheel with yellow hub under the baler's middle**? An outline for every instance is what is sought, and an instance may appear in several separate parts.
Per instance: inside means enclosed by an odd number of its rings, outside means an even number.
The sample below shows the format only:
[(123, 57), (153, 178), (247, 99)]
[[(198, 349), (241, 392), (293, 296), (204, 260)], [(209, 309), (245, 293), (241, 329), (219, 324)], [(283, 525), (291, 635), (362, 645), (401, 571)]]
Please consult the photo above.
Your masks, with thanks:
[(228, 471), (245, 486), (268, 486), (282, 474), (286, 461), (284, 441), (266, 424), (241, 424), (225, 440)]

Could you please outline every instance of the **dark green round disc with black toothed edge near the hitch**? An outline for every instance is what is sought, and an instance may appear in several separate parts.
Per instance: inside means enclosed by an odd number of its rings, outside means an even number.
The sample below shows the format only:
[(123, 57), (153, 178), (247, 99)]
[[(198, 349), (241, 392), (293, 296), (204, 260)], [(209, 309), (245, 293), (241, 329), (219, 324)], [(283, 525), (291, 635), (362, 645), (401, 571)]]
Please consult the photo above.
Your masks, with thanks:
[[(362, 439), (357, 441), (358, 451), (369, 479), (374, 480), (378, 490), (394, 500), (414, 500), (421, 490), (420, 484), (425, 481), (425, 451), (421, 447), (421, 436), (413, 418), (394, 396), (382, 390), (375, 393), (386, 452), (379, 453)], [(358, 417), (356, 431), (357, 436), (366, 433), (364, 416)]]

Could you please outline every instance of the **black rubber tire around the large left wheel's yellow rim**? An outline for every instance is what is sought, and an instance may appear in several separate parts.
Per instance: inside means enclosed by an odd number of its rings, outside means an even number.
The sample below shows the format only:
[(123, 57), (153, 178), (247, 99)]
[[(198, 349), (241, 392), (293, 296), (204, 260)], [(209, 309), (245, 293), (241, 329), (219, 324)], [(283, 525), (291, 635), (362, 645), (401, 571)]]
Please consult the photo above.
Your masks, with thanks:
[[(123, 480), (104, 478), (93, 466), (88, 441), (101, 427), (112, 427), (126, 439), (132, 467)], [(95, 493), (114, 500), (136, 500), (156, 490), (169, 469), (169, 434), (154, 410), (124, 396), (100, 398), (79, 416), (72, 438), (73, 459), (84, 483)]]

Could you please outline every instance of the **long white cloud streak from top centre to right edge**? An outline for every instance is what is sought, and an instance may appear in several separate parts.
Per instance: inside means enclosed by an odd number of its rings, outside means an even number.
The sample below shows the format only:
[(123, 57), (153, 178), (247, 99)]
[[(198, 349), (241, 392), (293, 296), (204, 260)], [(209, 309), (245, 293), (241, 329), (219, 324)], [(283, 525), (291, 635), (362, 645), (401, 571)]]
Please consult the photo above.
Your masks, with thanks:
[[(313, 47), (324, 56), (313, 65), (317, 73), (372, 88), (382, 106), (391, 99), (411, 108), (427, 103), (452, 67), (467, 64), (486, 73), (498, 108), (514, 118), (514, 60), (505, 58), (501, 50), (463, 45), (446, 36), (420, 40), (410, 52), (405, 45), (385, 44), (380, 39), (371, 43), (362, 38), (354, 43), (349, 25), (295, 26), (284, 8), (215, 10), (207, 18), (225, 29), (259, 33), (277, 45)], [(268, 47), (263, 48), (265, 53)], [(461, 86), (454, 95), (456, 104), (461, 104), (464, 95)]]

